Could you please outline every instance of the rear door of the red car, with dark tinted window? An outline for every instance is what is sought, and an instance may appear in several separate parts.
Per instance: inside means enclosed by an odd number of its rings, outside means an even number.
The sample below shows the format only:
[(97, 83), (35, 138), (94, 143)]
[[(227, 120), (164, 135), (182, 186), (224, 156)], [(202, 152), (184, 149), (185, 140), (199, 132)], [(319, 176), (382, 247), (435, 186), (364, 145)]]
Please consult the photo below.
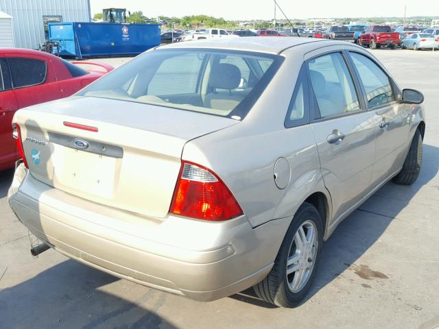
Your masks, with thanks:
[(43, 56), (6, 54), (19, 108), (62, 98), (54, 67)]

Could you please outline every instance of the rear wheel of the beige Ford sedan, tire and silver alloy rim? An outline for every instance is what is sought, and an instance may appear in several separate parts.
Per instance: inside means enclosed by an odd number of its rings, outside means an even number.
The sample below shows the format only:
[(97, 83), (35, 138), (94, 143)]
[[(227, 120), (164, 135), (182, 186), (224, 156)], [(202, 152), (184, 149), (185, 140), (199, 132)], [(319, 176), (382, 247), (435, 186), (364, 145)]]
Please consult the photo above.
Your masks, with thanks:
[[(313, 239), (311, 232), (314, 232)], [(296, 243), (303, 234), (309, 241), (305, 244)], [(322, 250), (322, 236), (323, 225), (318, 210), (304, 202), (293, 217), (270, 273), (253, 286), (254, 293), (261, 300), (276, 306), (298, 306), (305, 299), (316, 276)], [(310, 259), (313, 259), (312, 265)], [(288, 261), (294, 263), (288, 265)], [(289, 270), (296, 268), (296, 271), (287, 273), (288, 267)]]

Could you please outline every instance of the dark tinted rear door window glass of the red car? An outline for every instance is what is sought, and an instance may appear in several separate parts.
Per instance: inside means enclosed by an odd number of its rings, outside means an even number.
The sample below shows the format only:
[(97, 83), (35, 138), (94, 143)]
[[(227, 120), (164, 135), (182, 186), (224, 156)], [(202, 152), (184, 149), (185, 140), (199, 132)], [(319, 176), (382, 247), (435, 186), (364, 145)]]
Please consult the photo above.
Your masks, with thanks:
[(33, 58), (8, 58), (12, 74), (12, 86), (21, 88), (42, 84), (46, 80), (47, 66), (44, 60)]

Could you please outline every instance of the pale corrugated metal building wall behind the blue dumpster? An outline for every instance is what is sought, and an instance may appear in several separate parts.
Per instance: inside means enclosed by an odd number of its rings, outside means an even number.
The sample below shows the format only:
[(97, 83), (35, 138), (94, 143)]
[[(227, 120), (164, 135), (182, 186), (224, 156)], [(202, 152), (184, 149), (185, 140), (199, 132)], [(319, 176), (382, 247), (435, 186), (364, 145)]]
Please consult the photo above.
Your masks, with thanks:
[(45, 42), (43, 16), (91, 21), (90, 0), (0, 0), (0, 10), (13, 17), (15, 47), (20, 48), (38, 49)]

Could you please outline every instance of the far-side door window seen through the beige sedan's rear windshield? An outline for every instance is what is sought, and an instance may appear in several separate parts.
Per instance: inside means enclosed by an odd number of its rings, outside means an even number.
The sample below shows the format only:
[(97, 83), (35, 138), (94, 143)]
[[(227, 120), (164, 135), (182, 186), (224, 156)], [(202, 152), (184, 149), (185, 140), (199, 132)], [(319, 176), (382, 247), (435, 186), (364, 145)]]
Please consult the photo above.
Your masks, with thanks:
[(196, 93), (202, 58), (188, 53), (164, 60), (148, 86), (147, 95), (181, 95)]

